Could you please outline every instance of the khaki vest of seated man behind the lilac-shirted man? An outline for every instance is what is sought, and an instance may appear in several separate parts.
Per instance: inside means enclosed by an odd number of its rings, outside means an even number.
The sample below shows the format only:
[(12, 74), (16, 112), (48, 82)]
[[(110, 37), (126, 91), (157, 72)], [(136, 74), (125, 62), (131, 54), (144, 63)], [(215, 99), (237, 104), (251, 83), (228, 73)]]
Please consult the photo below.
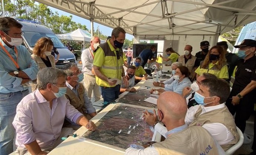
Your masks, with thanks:
[(69, 87), (67, 87), (65, 96), (69, 100), (70, 104), (73, 105), (79, 112), (87, 115), (86, 107), (84, 104), (85, 100), (83, 98), (83, 95), (85, 94), (85, 88), (83, 87), (83, 84), (79, 84), (78, 94), (79, 97), (76, 96), (76, 94)]

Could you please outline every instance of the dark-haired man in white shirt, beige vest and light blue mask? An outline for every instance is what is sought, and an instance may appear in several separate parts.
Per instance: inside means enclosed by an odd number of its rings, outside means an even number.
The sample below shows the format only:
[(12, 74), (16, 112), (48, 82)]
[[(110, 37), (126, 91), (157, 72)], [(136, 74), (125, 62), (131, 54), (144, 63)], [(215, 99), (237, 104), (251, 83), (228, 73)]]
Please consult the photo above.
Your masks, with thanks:
[[(230, 93), (229, 84), (218, 78), (209, 78), (202, 80), (199, 88), (194, 95), (199, 105), (188, 109), (185, 122), (189, 126), (201, 126), (207, 129), (226, 151), (239, 140), (233, 116), (225, 105)], [(167, 132), (163, 125), (157, 123), (155, 114), (145, 114), (145, 118), (148, 124), (155, 124), (155, 130), (162, 135)]]

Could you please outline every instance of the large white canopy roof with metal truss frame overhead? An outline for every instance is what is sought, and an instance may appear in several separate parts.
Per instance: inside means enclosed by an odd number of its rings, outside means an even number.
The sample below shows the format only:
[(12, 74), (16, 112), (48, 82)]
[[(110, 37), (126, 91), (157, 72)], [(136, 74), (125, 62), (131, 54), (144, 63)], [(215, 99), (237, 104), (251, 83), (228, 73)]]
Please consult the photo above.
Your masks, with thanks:
[(36, 1), (145, 38), (219, 35), (256, 19), (256, 0)]

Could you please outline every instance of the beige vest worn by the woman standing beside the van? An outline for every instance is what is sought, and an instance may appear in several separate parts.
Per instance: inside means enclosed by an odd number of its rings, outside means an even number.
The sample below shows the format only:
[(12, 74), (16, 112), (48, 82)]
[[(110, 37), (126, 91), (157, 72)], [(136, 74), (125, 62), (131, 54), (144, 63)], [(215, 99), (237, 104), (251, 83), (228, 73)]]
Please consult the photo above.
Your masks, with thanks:
[[(32, 54), (31, 57), (32, 57), (32, 59), (34, 59), (36, 61), (36, 64), (37, 64), (37, 67), (39, 68), (39, 70), (47, 67), (45, 65), (45, 63), (43, 62), (42, 58), (39, 57), (38, 55)], [(56, 67), (55, 58), (53, 57), (53, 55), (48, 55), (46, 57), (49, 58), (52, 67), (55, 68)], [(36, 88), (37, 88), (36, 80), (32, 81), (32, 87), (31, 88), (32, 88), (32, 92), (36, 90)]]

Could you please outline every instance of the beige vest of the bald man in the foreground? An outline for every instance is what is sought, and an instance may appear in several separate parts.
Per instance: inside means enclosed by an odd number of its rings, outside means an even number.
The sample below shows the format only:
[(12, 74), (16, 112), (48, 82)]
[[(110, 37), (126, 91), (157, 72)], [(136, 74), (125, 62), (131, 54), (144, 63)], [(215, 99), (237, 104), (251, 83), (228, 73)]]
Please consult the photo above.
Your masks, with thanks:
[(153, 146), (159, 155), (170, 155), (173, 150), (186, 155), (218, 155), (216, 142), (203, 127), (188, 127)]

